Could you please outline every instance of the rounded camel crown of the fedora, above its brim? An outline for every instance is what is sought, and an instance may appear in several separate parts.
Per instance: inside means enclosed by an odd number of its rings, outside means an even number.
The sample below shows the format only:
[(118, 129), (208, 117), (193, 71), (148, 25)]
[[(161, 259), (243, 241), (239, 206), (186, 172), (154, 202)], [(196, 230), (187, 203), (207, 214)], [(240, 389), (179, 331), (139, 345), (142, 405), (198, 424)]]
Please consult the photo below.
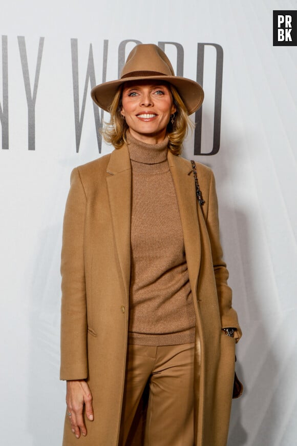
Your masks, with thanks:
[(136, 45), (129, 54), (120, 77), (137, 75), (139, 72), (142, 72), (142, 75), (147, 72), (148, 76), (151, 73), (165, 76), (175, 75), (171, 62), (164, 51), (153, 44)]

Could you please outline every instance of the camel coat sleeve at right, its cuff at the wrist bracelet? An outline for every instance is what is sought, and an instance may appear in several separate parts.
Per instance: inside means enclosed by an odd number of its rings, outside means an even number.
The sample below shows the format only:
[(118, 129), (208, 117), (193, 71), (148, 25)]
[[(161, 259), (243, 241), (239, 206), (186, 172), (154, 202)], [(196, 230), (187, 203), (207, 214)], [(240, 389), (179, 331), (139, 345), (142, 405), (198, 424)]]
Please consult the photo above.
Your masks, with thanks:
[(211, 255), (213, 256), (222, 328), (237, 328), (235, 337), (238, 341), (242, 333), (238, 323), (237, 313), (232, 308), (232, 291), (227, 285), (229, 273), (226, 268), (226, 263), (223, 260), (223, 251), (220, 243), (218, 198), (213, 172), (211, 172), (210, 177), (206, 226), (210, 240)]

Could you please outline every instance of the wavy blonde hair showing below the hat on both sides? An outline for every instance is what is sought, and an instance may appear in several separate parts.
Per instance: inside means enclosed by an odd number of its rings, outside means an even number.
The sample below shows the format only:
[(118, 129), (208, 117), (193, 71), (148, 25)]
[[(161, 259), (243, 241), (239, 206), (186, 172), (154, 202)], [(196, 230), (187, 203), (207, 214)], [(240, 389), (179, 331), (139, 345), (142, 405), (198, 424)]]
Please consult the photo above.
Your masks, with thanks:
[[(169, 138), (168, 148), (174, 155), (180, 155), (182, 152), (182, 143), (187, 135), (188, 129), (194, 129), (194, 124), (187, 114), (187, 110), (180, 97), (178, 91), (172, 84), (163, 82), (171, 91), (173, 103), (176, 107), (174, 124), (171, 119), (167, 124), (166, 135)], [(129, 129), (126, 121), (121, 115), (122, 110), (122, 92), (123, 84), (119, 87), (115, 94), (113, 102), (109, 108), (110, 121), (104, 123), (101, 134), (104, 140), (113, 145), (116, 149), (120, 149), (126, 141), (126, 132)]]

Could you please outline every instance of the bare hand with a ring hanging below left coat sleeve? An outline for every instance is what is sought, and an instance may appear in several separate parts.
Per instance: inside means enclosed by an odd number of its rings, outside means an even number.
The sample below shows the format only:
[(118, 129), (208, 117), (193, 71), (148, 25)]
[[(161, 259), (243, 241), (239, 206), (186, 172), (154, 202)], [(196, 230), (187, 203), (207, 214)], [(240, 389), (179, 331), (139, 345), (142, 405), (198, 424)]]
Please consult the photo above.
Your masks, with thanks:
[(84, 379), (67, 381), (67, 411), (71, 429), (76, 438), (79, 438), (80, 434), (84, 437), (87, 435), (86, 425), (83, 422), (82, 416), (83, 404), (86, 406), (86, 415), (88, 419), (90, 421), (93, 421), (94, 419), (92, 399), (90, 388)]

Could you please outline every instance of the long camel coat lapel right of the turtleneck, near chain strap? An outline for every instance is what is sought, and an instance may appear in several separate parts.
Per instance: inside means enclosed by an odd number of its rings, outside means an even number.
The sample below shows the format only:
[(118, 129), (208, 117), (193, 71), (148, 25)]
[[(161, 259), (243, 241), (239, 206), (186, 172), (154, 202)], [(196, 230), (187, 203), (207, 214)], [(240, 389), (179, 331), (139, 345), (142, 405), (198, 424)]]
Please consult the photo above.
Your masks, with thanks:
[(197, 216), (197, 198), (192, 166), (168, 151), (183, 230), (187, 268), (193, 296), (196, 294), (200, 270), (201, 245)]

